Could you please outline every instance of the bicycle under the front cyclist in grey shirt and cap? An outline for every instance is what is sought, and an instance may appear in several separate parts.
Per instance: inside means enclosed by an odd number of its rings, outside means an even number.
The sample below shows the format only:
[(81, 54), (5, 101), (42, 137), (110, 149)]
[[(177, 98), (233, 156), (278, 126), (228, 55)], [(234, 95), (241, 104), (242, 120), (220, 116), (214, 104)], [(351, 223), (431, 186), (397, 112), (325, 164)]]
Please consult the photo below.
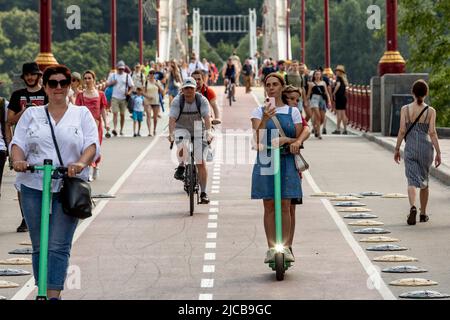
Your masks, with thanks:
[[(182, 138), (180, 139), (182, 140)], [(173, 142), (170, 143), (170, 150), (173, 149)], [(200, 203), (199, 199), (199, 193), (200, 190), (199, 186), (199, 177), (198, 177), (198, 170), (197, 165), (195, 164), (194, 159), (194, 138), (191, 138), (189, 144), (188, 144), (188, 150), (189, 150), (189, 162), (186, 164), (185, 171), (184, 171), (184, 191), (189, 196), (189, 215), (192, 216), (194, 214), (194, 196), (197, 195), (197, 204)]]

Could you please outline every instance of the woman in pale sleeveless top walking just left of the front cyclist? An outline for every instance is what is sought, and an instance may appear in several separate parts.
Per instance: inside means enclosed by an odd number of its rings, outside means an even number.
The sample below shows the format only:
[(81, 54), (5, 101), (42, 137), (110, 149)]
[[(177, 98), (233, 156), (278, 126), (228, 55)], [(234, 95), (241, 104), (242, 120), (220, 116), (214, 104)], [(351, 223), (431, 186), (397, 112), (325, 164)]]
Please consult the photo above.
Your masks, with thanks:
[(151, 116), (153, 111), (153, 135), (156, 136), (156, 126), (158, 125), (159, 108), (159, 95), (163, 92), (162, 84), (159, 80), (155, 79), (156, 71), (151, 69), (148, 73), (147, 81), (144, 88), (144, 109), (147, 115), (147, 127), (148, 135), (152, 136), (151, 132)]

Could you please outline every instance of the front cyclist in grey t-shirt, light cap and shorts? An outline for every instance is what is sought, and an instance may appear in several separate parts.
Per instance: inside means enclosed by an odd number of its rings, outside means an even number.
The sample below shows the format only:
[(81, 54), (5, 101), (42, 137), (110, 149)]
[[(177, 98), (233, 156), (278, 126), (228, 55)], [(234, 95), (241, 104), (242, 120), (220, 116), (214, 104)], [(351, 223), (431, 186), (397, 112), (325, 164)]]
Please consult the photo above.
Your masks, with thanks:
[(200, 180), (200, 203), (208, 204), (206, 194), (208, 170), (206, 168), (206, 155), (208, 144), (211, 143), (211, 117), (209, 114), (209, 102), (200, 93), (196, 93), (197, 83), (193, 78), (184, 80), (181, 93), (175, 97), (170, 107), (169, 114), (169, 141), (177, 144), (177, 156), (179, 165), (174, 178), (184, 179), (185, 163), (189, 160), (187, 143), (193, 139), (194, 159), (198, 169)]

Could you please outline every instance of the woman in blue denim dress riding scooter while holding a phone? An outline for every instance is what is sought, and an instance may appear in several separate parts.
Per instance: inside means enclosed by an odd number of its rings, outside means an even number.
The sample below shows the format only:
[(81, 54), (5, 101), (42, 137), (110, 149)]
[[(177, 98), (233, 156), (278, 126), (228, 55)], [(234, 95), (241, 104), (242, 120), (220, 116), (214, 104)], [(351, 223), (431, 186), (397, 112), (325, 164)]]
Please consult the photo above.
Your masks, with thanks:
[[(272, 144), (284, 146), (281, 152), (281, 198), (283, 219), (283, 253), (286, 261), (293, 262), (294, 256), (288, 248), (291, 233), (290, 205), (292, 199), (301, 196), (301, 181), (295, 167), (294, 154), (301, 146), (302, 118), (297, 108), (290, 108), (282, 100), (284, 88), (282, 76), (271, 73), (264, 80), (266, 94), (275, 98), (275, 105), (268, 101), (264, 106), (257, 107), (252, 113), (252, 127), (255, 133), (258, 150), (256, 163), (252, 174), (252, 199), (262, 199), (264, 203), (264, 229), (266, 232), (269, 250), (264, 263), (272, 262), (275, 258), (275, 201), (274, 176), (271, 151), (267, 147)], [(277, 134), (276, 126), (272, 120), (277, 117), (286, 137)]]

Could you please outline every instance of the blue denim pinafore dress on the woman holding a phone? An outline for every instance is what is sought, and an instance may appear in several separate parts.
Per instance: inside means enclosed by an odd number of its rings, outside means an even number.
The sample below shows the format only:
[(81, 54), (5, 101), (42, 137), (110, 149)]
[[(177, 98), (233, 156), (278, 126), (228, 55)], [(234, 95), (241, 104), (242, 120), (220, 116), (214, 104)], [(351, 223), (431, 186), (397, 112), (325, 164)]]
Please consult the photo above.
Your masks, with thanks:
[[(292, 120), (292, 108), (289, 108), (288, 114), (277, 114), (276, 117), (280, 122), (284, 133), (289, 138), (295, 138), (295, 124)], [(267, 121), (266, 134), (261, 143), (271, 146), (273, 130), (276, 126), (272, 120)], [(267, 139), (267, 136), (269, 139)], [(282, 149), (283, 150), (283, 149)], [(288, 150), (281, 152), (281, 198), (282, 199), (298, 199), (302, 197), (301, 179), (295, 167), (294, 155)], [(256, 163), (253, 167), (252, 174), (252, 199), (274, 199), (274, 170), (272, 161), (272, 151), (263, 150), (258, 152)]]

